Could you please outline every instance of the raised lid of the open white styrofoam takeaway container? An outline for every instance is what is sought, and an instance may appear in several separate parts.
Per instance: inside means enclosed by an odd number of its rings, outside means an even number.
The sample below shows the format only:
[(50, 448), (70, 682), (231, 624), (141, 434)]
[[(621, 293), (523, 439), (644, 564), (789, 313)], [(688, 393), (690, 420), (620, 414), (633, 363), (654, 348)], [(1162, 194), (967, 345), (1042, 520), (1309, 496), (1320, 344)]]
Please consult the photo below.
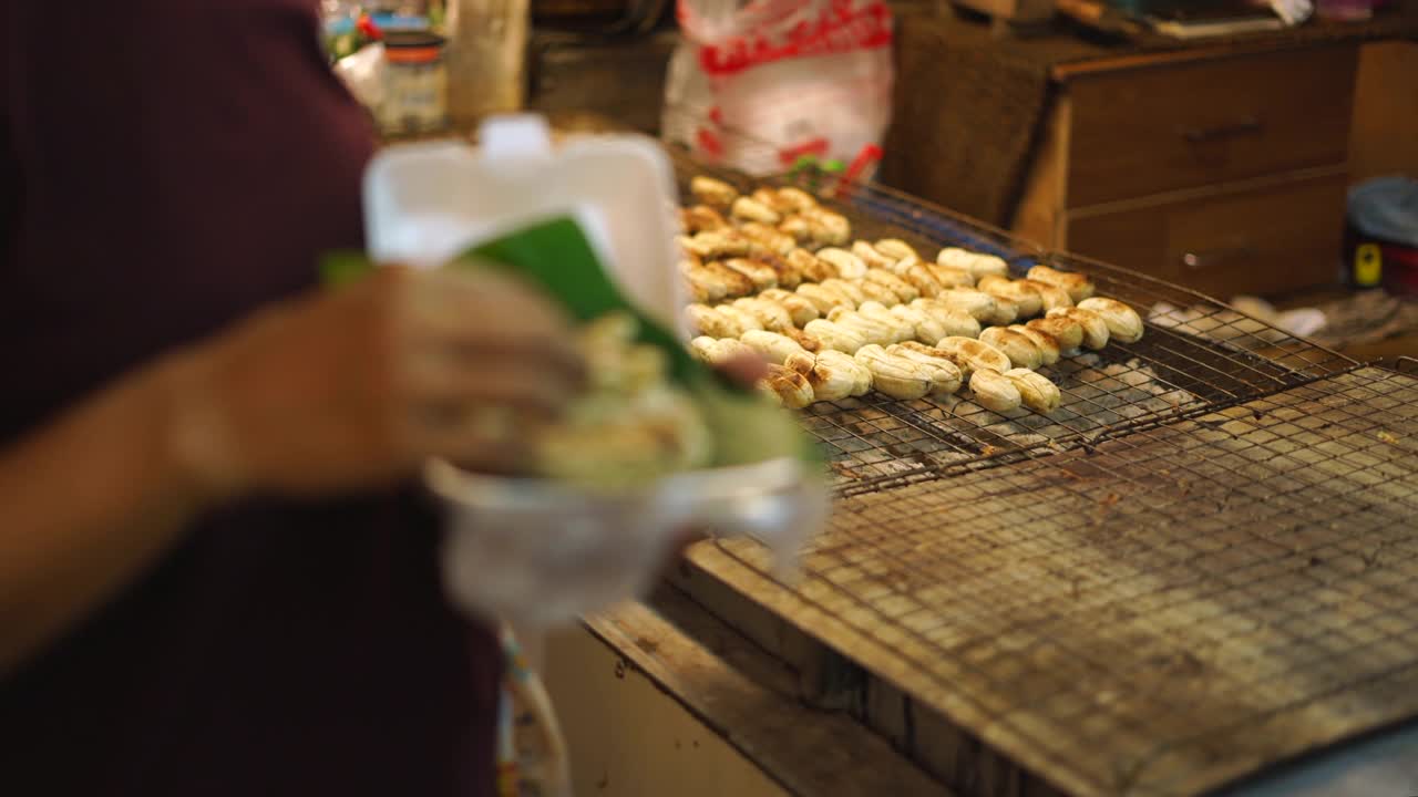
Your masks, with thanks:
[(570, 214), (625, 295), (683, 335), (675, 207), (674, 169), (652, 139), (588, 136), (553, 149), (546, 121), (530, 115), (489, 119), (476, 149), (390, 146), (364, 173), (377, 262), (435, 267), (510, 227)]

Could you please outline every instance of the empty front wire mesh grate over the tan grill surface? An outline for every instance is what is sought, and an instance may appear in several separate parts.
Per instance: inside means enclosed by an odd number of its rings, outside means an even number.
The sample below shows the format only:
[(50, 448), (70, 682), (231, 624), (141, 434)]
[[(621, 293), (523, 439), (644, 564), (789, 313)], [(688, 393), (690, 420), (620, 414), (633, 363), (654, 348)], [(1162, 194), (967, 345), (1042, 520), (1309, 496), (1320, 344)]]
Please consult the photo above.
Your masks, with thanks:
[(1415, 474), (1418, 380), (1361, 369), (845, 498), (795, 596), (1071, 793), (1194, 794), (1418, 715)]

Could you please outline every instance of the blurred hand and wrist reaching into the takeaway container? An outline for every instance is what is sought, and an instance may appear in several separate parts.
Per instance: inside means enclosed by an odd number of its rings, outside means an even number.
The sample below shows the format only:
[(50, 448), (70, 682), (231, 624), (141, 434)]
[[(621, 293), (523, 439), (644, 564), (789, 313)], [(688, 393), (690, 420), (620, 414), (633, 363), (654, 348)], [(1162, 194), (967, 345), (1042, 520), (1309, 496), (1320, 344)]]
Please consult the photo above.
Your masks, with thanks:
[(567, 321), (516, 281), (384, 268), (180, 356), (172, 442), (217, 498), (376, 486), (430, 457), (515, 469), (581, 367)]

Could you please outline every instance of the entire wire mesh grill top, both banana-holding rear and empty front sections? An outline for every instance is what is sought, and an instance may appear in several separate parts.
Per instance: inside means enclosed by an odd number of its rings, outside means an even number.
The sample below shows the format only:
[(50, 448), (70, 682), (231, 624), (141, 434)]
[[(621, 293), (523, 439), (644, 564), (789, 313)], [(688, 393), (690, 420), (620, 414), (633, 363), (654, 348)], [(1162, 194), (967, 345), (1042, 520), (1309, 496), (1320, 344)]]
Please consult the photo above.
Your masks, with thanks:
[(882, 187), (716, 176), (825, 189), (862, 238), (1083, 271), (1147, 321), (1137, 343), (1045, 369), (1049, 416), (805, 410), (839, 499), (804, 580), (712, 543), (764, 576), (764, 606), (1071, 794), (1195, 794), (1418, 715), (1412, 363), (1361, 367)]

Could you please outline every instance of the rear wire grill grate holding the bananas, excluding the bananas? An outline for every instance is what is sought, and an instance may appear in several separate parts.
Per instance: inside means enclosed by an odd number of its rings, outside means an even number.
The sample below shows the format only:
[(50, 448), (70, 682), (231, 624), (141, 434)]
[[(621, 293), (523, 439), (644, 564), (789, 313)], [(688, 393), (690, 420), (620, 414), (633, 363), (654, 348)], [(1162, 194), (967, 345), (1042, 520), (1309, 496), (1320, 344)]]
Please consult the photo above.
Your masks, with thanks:
[[(705, 167), (681, 156), (676, 173)], [(814, 404), (805, 423), (827, 448), (837, 486), (869, 489), (883, 479), (942, 474), (947, 468), (1035, 448), (1096, 444), (1127, 428), (1205, 411), (1303, 384), (1357, 366), (1201, 294), (1107, 264), (1044, 252), (1007, 233), (934, 208), (879, 186), (834, 183), (822, 173), (752, 180), (715, 172), (740, 190), (797, 184), (848, 216), (866, 240), (902, 238), (927, 257), (946, 245), (997, 254), (1022, 275), (1037, 262), (1089, 274), (1102, 295), (1122, 299), (1149, 319), (1137, 343), (1110, 343), (1041, 369), (1058, 384), (1062, 407), (1041, 416), (1001, 416), (959, 397), (895, 401), (881, 396)]]

